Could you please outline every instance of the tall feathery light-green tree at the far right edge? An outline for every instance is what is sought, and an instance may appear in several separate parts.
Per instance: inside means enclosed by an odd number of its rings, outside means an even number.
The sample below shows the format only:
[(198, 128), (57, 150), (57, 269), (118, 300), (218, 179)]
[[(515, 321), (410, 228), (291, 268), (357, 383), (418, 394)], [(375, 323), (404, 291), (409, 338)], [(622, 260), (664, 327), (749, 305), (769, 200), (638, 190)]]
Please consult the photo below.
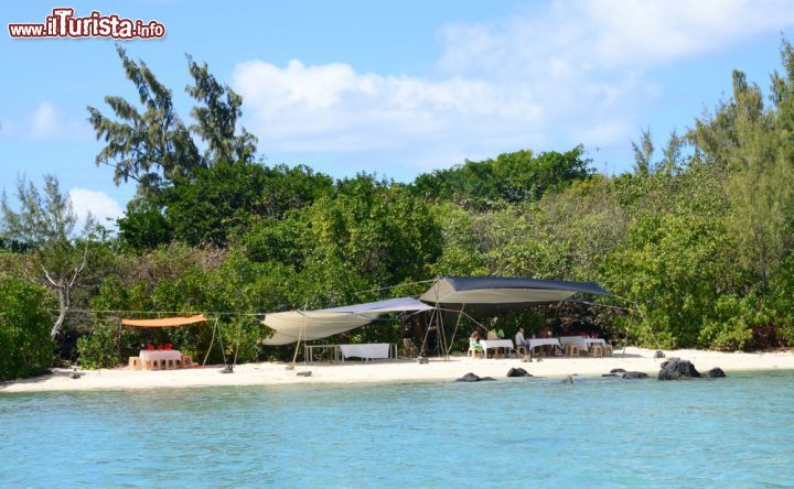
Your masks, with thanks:
[[(787, 100), (791, 79), (773, 78), (773, 100)], [(763, 284), (777, 273), (792, 244), (794, 166), (786, 117), (766, 109), (758, 85), (734, 72), (731, 100), (699, 120), (691, 135), (707, 157), (725, 169), (728, 225), (741, 264)]]

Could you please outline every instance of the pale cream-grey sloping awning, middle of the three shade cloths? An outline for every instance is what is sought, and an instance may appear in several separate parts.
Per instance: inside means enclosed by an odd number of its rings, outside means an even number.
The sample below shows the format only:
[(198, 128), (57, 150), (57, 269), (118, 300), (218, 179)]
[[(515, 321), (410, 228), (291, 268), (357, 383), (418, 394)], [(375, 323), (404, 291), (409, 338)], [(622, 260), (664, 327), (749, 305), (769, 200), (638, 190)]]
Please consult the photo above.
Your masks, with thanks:
[(430, 311), (433, 307), (411, 297), (353, 304), (315, 311), (288, 311), (267, 314), (262, 324), (276, 333), (264, 345), (289, 345), (344, 333), (372, 323), (384, 314)]

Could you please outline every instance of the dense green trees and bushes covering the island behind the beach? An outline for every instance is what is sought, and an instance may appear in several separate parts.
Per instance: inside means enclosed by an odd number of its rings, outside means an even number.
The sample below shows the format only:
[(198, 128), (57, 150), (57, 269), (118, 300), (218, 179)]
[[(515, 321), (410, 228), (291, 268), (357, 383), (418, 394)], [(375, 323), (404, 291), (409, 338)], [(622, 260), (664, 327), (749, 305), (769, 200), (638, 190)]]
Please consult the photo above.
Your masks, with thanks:
[[(225, 351), (211, 361), (279, 357), (287, 349), (260, 346), (257, 313), (416, 294), (427, 287), (416, 282), (448, 274), (596, 281), (637, 304), (487, 319), (507, 334), (521, 323), (643, 345), (653, 330), (663, 347), (792, 346), (794, 51), (784, 42), (781, 54), (768, 97), (736, 72), (731, 97), (673, 133), (659, 157), (643, 131), (631, 173), (596, 174), (578, 146), (397, 183), (268, 166), (239, 129), (239, 96), (206, 65), (189, 58), (187, 126), (172, 93), (119, 50), (139, 104), (107, 97), (112, 116), (89, 108), (89, 120), (106, 143), (97, 164), (114, 166), (116, 183), (133, 181), (137, 196), (117, 235), (94, 225), (75, 233), (52, 177), (43, 194), (20, 185), (19, 213), (4, 200), (0, 357), (10, 363), (0, 378), (53, 358), (116, 365), (152, 339), (206, 352), (211, 325), (119, 328), (119, 316), (151, 317), (143, 312), (216, 313)], [(348, 340), (398, 335), (385, 324)]]

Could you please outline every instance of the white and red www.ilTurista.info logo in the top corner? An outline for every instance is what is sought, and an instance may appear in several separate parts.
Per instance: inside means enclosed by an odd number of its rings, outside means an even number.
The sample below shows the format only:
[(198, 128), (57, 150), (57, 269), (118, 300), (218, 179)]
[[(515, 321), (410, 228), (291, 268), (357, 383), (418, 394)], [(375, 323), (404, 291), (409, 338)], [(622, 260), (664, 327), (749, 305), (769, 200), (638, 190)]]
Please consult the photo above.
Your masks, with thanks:
[(117, 14), (104, 15), (95, 10), (87, 17), (75, 17), (71, 7), (57, 7), (40, 23), (9, 23), (9, 35), (15, 39), (84, 39), (106, 37), (118, 40), (163, 39), (165, 25), (155, 20), (125, 19)]

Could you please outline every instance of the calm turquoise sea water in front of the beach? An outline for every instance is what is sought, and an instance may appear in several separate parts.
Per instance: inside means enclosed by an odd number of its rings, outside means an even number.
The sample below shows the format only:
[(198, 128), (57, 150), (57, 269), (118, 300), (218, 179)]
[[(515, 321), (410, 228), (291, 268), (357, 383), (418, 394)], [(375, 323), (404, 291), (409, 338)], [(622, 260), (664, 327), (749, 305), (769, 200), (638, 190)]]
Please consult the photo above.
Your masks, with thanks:
[(0, 426), (3, 487), (794, 486), (794, 372), (0, 391)]

